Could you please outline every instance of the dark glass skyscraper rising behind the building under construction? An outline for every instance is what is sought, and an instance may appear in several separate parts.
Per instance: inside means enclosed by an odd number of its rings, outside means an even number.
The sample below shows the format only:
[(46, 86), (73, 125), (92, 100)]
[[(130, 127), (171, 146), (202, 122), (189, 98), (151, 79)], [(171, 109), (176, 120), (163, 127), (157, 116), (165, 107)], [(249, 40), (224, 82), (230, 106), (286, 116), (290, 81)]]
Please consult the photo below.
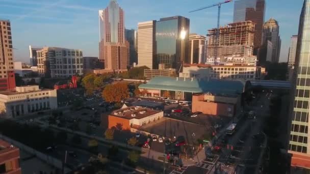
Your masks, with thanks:
[(247, 20), (254, 22), (254, 48), (260, 47), (265, 21), (265, 0), (239, 0), (235, 1), (234, 6), (234, 23)]

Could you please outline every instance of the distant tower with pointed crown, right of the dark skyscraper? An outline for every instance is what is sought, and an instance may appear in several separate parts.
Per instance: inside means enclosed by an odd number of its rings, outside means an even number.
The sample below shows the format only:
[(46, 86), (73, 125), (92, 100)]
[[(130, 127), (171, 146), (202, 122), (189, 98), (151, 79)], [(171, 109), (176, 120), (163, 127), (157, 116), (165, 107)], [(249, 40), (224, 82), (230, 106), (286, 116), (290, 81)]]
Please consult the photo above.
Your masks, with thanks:
[(263, 26), (263, 43), (269, 40), (272, 42), (272, 62), (279, 62), (281, 40), (279, 36), (278, 21), (270, 18)]

